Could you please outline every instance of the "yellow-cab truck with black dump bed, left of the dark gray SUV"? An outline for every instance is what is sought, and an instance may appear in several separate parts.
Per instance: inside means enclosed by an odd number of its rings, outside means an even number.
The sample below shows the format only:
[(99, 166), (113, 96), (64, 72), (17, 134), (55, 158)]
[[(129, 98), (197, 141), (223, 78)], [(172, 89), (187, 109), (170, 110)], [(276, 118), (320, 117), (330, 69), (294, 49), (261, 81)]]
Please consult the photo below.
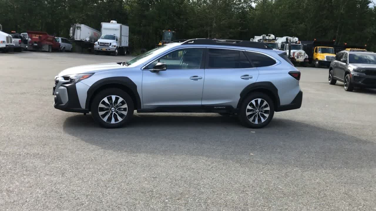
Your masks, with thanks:
[(312, 66), (329, 68), (335, 57), (334, 41), (302, 41), (302, 44)]

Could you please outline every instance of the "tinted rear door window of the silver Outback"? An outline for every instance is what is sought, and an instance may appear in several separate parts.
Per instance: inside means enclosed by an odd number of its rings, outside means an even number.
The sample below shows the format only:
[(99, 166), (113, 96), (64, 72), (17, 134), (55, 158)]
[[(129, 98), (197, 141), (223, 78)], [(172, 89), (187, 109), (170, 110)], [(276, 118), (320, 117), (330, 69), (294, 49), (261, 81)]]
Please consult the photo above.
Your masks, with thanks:
[(208, 69), (251, 68), (251, 63), (243, 51), (209, 48)]

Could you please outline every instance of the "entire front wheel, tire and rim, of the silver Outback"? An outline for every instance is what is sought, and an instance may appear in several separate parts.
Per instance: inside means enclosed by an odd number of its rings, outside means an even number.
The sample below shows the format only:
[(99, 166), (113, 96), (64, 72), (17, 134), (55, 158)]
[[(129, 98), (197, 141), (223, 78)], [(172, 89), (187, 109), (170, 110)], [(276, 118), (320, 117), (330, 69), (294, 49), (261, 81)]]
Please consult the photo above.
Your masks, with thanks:
[(132, 118), (133, 110), (132, 98), (116, 88), (101, 91), (91, 104), (93, 118), (105, 128), (122, 127)]

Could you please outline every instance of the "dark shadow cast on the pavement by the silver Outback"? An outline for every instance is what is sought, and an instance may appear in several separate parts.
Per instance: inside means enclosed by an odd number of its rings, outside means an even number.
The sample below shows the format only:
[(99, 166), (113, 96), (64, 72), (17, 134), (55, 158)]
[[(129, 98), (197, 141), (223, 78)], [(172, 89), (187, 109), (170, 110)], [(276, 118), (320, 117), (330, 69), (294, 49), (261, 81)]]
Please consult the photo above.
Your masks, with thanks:
[(137, 114), (124, 128), (97, 126), (90, 115), (68, 117), (64, 132), (105, 150), (194, 155), (303, 169), (374, 168), (376, 144), (337, 131), (274, 118), (250, 129), (237, 118), (210, 115)]

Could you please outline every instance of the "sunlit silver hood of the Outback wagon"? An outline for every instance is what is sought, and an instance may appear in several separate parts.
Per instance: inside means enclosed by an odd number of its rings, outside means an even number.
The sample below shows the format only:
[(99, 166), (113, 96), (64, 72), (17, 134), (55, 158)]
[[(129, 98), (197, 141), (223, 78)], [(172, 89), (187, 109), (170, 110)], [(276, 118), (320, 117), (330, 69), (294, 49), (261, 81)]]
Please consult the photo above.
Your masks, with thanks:
[(72, 68), (65, 69), (61, 71), (58, 76), (89, 73), (89, 72), (93, 73), (93, 72), (100, 72), (100, 71), (105, 71), (105, 70), (110, 70), (110, 69), (122, 69), (122, 68), (125, 68), (125, 66), (119, 65), (118, 63), (82, 65), (82, 66), (75, 66)]

